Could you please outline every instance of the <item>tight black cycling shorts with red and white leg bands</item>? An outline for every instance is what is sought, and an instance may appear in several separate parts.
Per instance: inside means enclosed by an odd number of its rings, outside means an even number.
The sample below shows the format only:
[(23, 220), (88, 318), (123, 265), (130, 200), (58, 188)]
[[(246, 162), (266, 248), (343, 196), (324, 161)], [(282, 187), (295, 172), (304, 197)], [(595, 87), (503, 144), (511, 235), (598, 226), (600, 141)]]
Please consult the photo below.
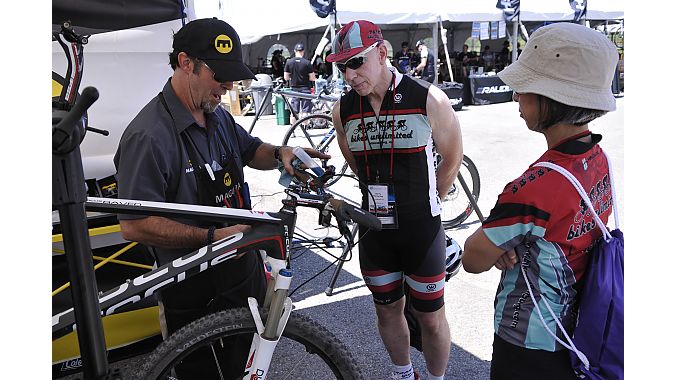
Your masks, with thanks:
[[(365, 229), (364, 229), (365, 230)], [(422, 312), (444, 306), (446, 239), (439, 216), (399, 220), (396, 230), (360, 230), (359, 264), (376, 304), (390, 304), (410, 287), (411, 303)]]

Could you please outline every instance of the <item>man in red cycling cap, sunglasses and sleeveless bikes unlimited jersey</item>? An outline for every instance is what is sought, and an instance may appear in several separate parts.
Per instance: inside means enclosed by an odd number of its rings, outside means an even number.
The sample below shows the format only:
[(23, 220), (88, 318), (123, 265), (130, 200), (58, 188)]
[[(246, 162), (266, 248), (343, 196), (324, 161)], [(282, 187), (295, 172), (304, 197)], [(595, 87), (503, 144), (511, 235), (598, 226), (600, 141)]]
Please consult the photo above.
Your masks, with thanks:
[[(362, 183), (362, 207), (376, 213), (384, 228), (360, 228), (359, 264), (394, 364), (393, 379), (417, 378), (404, 282), (422, 329), (427, 378), (443, 379), (451, 337), (444, 311), (446, 244), (439, 194), (448, 193), (462, 161), (458, 119), (438, 87), (388, 69), (387, 47), (373, 23), (343, 26), (333, 52), (327, 61), (337, 63), (352, 87), (332, 111), (338, 143)], [(443, 157), (436, 172), (433, 146)]]

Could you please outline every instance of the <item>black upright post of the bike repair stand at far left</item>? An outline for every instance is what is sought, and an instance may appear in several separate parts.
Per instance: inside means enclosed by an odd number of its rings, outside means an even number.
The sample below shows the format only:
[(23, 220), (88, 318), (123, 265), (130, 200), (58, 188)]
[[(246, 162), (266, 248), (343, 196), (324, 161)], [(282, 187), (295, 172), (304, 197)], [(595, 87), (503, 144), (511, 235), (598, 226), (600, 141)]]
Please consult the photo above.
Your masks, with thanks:
[[(58, 109), (52, 112), (52, 207), (59, 211), (63, 231), (85, 379), (109, 378), (106, 340), (84, 209), (87, 192), (80, 156), (80, 142), (84, 136), (81, 117), (97, 98), (98, 91), (88, 87), (72, 111)], [(58, 125), (54, 126), (55, 123)]]

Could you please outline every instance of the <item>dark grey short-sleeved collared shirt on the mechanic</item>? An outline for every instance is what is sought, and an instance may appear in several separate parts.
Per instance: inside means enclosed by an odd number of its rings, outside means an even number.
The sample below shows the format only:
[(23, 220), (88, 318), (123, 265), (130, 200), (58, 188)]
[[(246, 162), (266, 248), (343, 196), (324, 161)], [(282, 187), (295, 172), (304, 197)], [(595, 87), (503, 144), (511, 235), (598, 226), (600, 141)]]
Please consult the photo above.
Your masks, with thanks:
[[(156, 202), (197, 204), (197, 183), (188, 153), (179, 134), (190, 134), (197, 150), (209, 163), (222, 156), (235, 160), (244, 178), (243, 167), (254, 157), (262, 141), (251, 136), (223, 108), (206, 115), (206, 128), (200, 127), (180, 102), (167, 81), (162, 94), (153, 98), (129, 123), (115, 153), (120, 198)], [(172, 119), (173, 116), (173, 119)], [(228, 144), (227, 149), (223, 142)], [(139, 219), (141, 215), (118, 215), (119, 219)], [(195, 221), (181, 220), (195, 225)]]

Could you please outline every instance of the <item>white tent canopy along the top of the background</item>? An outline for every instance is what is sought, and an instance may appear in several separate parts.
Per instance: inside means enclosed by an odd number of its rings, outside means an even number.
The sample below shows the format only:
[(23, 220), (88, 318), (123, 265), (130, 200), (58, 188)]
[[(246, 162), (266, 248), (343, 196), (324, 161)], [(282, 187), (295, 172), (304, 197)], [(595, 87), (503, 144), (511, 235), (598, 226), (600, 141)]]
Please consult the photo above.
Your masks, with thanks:
[[(496, 0), (364, 1), (337, 0), (338, 23), (365, 19), (378, 25), (430, 24), (450, 22), (500, 21), (502, 11)], [(240, 34), (242, 43), (251, 44), (264, 36), (285, 34), (325, 27), (330, 17), (319, 18), (307, 0), (241, 1), (196, 0), (197, 17), (218, 17), (230, 23)], [(574, 11), (568, 0), (521, 0), (521, 21), (568, 21)], [(587, 19), (624, 18), (624, 0), (588, 0)]]

